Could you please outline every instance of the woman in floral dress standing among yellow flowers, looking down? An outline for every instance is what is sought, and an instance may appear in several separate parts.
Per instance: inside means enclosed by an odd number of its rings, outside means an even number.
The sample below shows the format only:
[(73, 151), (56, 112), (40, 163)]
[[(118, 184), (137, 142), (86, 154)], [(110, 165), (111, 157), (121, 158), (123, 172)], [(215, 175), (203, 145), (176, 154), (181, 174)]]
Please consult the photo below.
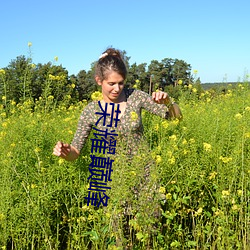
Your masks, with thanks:
[[(118, 143), (120, 147), (117, 146), (118, 153), (116, 152), (114, 157), (119, 156), (120, 153), (124, 154), (125, 151), (127, 160), (124, 161), (125, 164), (123, 168), (129, 166), (134, 167), (135, 164), (133, 165), (131, 159), (138, 153), (138, 149), (143, 144), (141, 110), (146, 109), (165, 119), (181, 118), (182, 114), (180, 108), (176, 103), (171, 101), (167, 93), (161, 91), (154, 92), (151, 97), (143, 91), (124, 88), (126, 76), (127, 69), (120, 51), (113, 48), (107, 49), (100, 56), (95, 69), (95, 80), (102, 88), (103, 99), (100, 102), (93, 101), (84, 108), (72, 143), (57, 142), (53, 152), (54, 155), (68, 161), (73, 161), (80, 155), (80, 151), (85, 145), (92, 129), (98, 129), (99, 131), (107, 131), (108, 129), (110, 133), (112, 131), (117, 133), (117, 142), (120, 142), (120, 144)], [(118, 111), (120, 112), (114, 112), (114, 110), (117, 110), (117, 107), (115, 107), (116, 105), (119, 107)], [(114, 121), (112, 123), (111, 116), (106, 117), (106, 124), (103, 122), (97, 123), (100, 118), (98, 113), (100, 114), (105, 108), (108, 114), (112, 112), (115, 113), (113, 116), (114, 119), (115, 115), (118, 115), (116, 117), (117, 124), (114, 124)], [(108, 125), (110, 124), (112, 125), (109, 127)], [(144, 153), (146, 156), (149, 155), (147, 151), (144, 151)], [(111, 158), (112, 157), (111, 155)], [(124, 194), (126, 192), (123, 193), (123, 191), (121, 191), (121, 193), (116, 196), (120, 199), (120, 204), (124, 210), (123, 213), (126, 215), (126, 219), (129, 219), (131, 215), (134, 215), (136, 212), (142, 211), (144, 204), (147, 204), (147, 209), (144, 209), (144, 212), (140, 214), (144, 214), (144, 217), (155, 216), (154, 211), (157, 205), (153, 206), (152, 204), (154, 201), (158, 200), (154, 198), (157, 184), (154, 183), (154, 181), (151, 181), (151, 184), (149, 182), (150, 165), (152, 165), (152, 163), (149, 163), (148, 157), (145, 157), (144, 161), (142, 159), (140, 164), (144, 169), (140, 177), (136, 176), (138, 178), (137, 180), (132, 180), (132, 182), (128, 180), (126, 182), (124, 178), (125, 174), (121, 177), (120, 183), (118, 182), (118, 185), (115, 186), (115, 188), (118, 186), (122, 189), (120, 184), (126, 185), (126, 191), (128, 190), (127, 193), (132, 190), (134, 195), (132, 195), (134, 198), (131, 198), (130, 195), (126, 196)], [(121, 169), (119, 169), (119, 171), (121, 171)], [(128, 197), (131, 199), (129, 200)], [(110, 200), (112, 200), (112, 197), (110, 197)], [(123, 216), (118, 214), (115, 219), (113, 218), (112, 227), (114, 231), (121, 228), (121, 217)], [(128, 223), (125, 226), (128, 228)], [(123, 239), (123, 236), (120, 235), (117, 238), (117, 242), (119, 241), (118, 239)], [(117, 244), (119, 245), (119, 243)]]

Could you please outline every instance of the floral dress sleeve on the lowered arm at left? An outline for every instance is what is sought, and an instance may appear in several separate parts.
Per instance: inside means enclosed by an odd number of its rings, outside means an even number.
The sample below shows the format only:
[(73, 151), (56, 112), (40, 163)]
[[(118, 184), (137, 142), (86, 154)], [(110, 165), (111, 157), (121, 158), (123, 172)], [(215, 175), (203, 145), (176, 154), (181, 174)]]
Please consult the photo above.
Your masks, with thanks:
[(78, 121), (77, 130), (75, 132), (75, 136), (71, 145), (75, 147), (79, 152), (83, 148), (88, 139), (88, 136), (91, 132), (93, 126), (93, 114), (94, 111), (94, 104), (93, 102), (88, 104), (87, 107), (81, 113), (80, 119)]

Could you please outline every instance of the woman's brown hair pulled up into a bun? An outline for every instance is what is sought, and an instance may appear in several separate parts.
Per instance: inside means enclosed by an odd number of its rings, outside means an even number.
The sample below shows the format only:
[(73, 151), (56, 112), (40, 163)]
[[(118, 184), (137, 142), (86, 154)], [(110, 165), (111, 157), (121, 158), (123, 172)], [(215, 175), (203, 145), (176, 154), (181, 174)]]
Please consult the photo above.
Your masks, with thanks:
[(122, 53), (114, 48), (108, 48), (99, 57), (95, 65), (95, 76), (98, 76), (103, 81), (110, 71), (117, 72), (124, 80), (127, 77), (127, 68)]

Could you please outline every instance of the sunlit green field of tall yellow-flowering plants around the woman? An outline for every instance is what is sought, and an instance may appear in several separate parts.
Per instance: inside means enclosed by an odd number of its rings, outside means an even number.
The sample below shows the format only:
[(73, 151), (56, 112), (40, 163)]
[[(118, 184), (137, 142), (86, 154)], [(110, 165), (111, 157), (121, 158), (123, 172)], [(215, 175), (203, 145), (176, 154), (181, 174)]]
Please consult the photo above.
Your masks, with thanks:
[[(151, 154), (116, 155), (108, 206), (87, 206), (88, 143), (75, 162), (52, 155), (71, 142), (86, 102), (0, 106), (0, 249), (250, 249), (250, 88), (183, 91), (183, 120), (143, 112)], [(130, 189), (149, 160), (161, 194), (148, 216), (146, 193)], [(145, 195), (145, 197), (144, 197)], [(124, 222), (122, 203), (136, 203)], [(151, 211), (152, 212), (152, 211)], [(158, 223), (157, 223), (158, 222)], [(125, 228), (124, 224), (129, 225)]]

